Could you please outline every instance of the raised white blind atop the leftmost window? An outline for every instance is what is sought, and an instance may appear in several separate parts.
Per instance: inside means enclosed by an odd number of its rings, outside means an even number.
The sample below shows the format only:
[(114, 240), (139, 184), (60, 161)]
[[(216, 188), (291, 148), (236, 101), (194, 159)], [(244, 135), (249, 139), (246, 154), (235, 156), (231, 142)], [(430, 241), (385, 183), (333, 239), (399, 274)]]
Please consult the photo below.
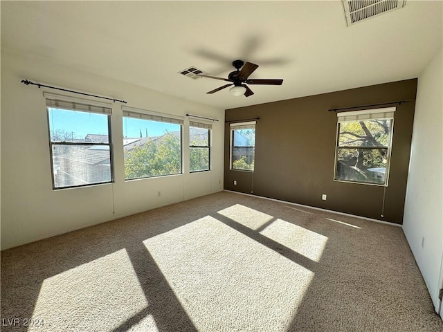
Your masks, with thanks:
[(83, 111), (111, 115), (111, 104), (89, 101), (80, 98), (72, 98), (64, 95), (44, 93), (46, 107), (53, 109), (69, 109), (71, 111)]

